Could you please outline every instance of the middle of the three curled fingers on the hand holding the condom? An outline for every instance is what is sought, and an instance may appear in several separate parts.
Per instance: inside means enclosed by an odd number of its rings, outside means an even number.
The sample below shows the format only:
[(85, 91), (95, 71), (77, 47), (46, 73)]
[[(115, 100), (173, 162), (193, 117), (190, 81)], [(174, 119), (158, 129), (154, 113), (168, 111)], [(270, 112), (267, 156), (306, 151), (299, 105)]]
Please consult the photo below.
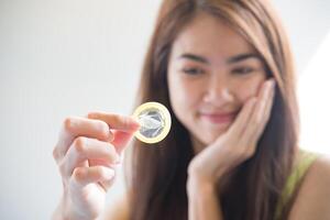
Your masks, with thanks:
[(108, 142), (79, 136), (59, 163), (62, 176), (67, 179), (74, 169), (81, 166), (87, 160), (96, 160), (98, 165), (111, 166), (120, 162), (120, 156), (114, 146)]

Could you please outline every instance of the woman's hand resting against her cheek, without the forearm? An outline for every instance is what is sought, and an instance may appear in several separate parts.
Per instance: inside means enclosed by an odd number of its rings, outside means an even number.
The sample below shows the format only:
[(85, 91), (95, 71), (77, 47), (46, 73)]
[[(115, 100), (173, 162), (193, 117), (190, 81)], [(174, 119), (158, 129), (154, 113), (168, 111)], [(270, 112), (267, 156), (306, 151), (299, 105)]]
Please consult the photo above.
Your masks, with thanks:
[(188, 167), (189, 178), (216, 184), (224, 174), (254, 155), (270, 119), (274, 85), (274, 79), (266, 80), (257, 97), (245, 102), (229, 130), (193, 158)]

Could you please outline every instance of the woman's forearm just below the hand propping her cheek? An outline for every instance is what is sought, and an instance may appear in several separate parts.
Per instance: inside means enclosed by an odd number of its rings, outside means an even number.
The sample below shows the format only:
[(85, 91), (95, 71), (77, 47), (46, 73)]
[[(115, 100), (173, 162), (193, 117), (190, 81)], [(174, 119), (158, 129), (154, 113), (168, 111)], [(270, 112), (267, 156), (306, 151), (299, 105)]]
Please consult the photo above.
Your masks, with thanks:
[(189, 220), (223, 219), (216, 184), (189, 175), (187, 194)]

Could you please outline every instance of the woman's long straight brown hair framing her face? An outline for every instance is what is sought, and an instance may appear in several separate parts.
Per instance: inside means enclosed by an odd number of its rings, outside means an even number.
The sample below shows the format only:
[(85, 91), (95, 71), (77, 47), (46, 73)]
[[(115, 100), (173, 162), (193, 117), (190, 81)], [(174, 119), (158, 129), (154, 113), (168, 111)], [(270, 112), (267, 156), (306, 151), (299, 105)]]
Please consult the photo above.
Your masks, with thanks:
[(226, 190), (219, 194), (224, 219), (274, 219), (296, 154), (299, 118), (288, 41), (267, 0), (163, 1), (142, 69), (136, 106), (146, 101), (165, 105), (173, 125), (161, 143), (135, 141), (129, 147), (130, 219), (188, 219), (187, 167), (194, 152), (187, 129), (169, 105), (166, 77), (173, 42), (200, 12), (221, 19), (241, 34), (262, 57), (267, 77), (277, 81), (271, 118), (255, 155), (237, 167)]

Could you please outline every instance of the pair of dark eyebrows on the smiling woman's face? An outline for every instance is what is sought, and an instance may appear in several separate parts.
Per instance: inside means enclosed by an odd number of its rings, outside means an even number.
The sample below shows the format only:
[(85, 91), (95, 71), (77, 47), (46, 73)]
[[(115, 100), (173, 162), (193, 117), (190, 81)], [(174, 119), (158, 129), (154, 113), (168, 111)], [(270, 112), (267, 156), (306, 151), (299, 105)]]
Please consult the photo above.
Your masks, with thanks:
[[(182, 54), (178, 58), (179, 59), (187, 58), (187, 59), (191, 59), (191, 61), (199, 62), (199, 63), (202, 63), (202, 64), (210, 64), (210, 62), (206, 57), (202, 57), (202, 56), (196, 55), (196, 54), (191, 54), (191, 53)], [(260, 59), (261, 57), (257, 54), (254, 54), (254, 53), (245, 53), (245, 54), (239, 54), (239, 55), (229, 57), (226, 61), (226, 63), (227, 64), (234, 64), (234, 63), (239, 63), (239, 62), (242, 62), (244, 59), (248, 59), (248, 58), (257, 58), (257, 59)]]

